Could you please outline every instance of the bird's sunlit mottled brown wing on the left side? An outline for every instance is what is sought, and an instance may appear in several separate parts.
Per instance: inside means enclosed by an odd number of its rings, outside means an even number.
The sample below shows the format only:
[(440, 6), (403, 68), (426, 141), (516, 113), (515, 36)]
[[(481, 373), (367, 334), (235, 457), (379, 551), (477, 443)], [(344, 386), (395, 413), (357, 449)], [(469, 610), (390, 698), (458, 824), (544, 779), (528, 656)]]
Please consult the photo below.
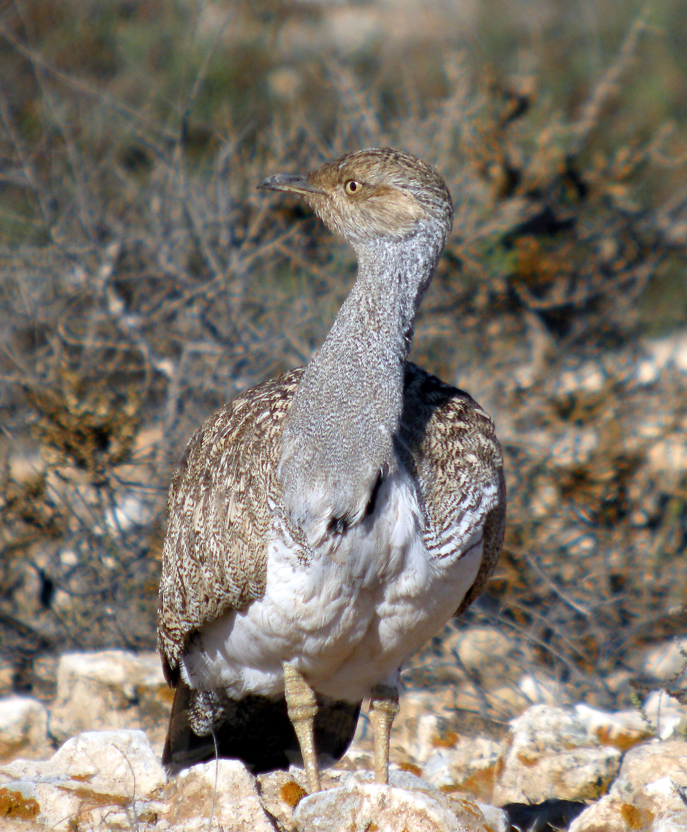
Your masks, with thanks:
[(167, 500), (157, 644), (176, 682), (189, 636), (265, 592), (281, 427), (302, 369), (248, 390), (187, 445)]

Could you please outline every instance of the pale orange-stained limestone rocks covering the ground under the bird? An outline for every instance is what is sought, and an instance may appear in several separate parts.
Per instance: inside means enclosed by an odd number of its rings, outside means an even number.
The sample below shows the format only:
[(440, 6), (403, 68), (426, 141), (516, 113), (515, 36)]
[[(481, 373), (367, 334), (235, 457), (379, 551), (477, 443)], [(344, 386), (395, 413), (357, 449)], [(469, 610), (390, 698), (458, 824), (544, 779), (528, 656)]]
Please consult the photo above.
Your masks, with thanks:
[[(463, 634), (468, 666), (479, 631)], [(492, 643), (493, 642), (493, 643)], [(675, 676), (684, 646), (666, 642), (645, 669)], [(503, 645), (491, 634), (493, 659)], [(2, 682), (2, 680), (0, 680)], [(530, 681), (531, 688), (531, 681)], [(507, 723), (456, 708), (451, 687), (401, 697), (391, 785), (372, 783), (371, 735), (356, 740), (306, 795), (296, 768), (254, 777), (236, 760), (167, 778), (160, 752), (171, 704), (157, 655), (72, 653), (42, 703), (0, 699), (0, 826), (138, 832), (629, 832), (687, 828), (687, 706), (657, 690), (615, 713), (543, 690)], [(521, 688), (528, 690), (528, 682)], [(520, 691), (521, 701), (525, 692)], [(530, 703), (532, 698), (530, 697)], [(515, 703), (515, 700), (514, 700)], [(515, 704), (514, 704), (514, 709)]]

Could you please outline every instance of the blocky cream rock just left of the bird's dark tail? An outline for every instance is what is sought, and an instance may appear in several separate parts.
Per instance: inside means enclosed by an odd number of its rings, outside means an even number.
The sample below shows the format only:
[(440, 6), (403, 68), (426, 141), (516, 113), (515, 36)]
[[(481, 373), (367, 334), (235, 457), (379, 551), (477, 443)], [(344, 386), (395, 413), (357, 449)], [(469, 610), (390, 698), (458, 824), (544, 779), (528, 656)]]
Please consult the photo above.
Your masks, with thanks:
[(66, 653), (57, 669), (50, 731), (58, 741), (89, 730), (145, 730), (162, 749), (172, 694), (157, 653)]

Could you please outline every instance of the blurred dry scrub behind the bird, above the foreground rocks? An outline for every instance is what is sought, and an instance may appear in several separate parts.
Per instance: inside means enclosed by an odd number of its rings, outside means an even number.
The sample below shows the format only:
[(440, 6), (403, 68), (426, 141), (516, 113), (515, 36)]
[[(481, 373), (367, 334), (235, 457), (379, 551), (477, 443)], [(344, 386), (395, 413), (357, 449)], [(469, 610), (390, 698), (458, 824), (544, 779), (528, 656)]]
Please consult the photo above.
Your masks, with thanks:
[[(306, 363), (355, 277), (346, 246), (256, 182), (390, 144), (436, 166), (456, 204), (412, 357), (468, 389), (505, 444), (504, 556), (456, 626), (499, 626), (522, 673), (571, 697), (630, 701), (640, 648), (687, 622), (685, 12), (0, 2), (15, 689), (49, 695), (58, 651), (154, 647), (184, 443)], [(445, 659), (435, 641), (407, 683), (440, 684)], [(476, 710), (517, 709), (462, 671)]]

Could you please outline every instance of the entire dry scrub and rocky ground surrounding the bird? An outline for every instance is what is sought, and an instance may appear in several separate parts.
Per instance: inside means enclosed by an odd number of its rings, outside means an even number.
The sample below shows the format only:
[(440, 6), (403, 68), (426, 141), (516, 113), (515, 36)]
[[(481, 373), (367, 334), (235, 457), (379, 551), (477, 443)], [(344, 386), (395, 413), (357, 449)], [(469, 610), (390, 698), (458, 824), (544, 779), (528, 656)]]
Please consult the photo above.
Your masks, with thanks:
[[(687, 828), (687, 156), (655, 52), (677, 4), (600, 14), (578, 80), (565, 3), (6, 5), (0, 830)], [(321, 794), (227, 760), (169, 781), (145, 651), (172, 470), (311, 358), (354, 274), (255, 185), (364, 146), (455, 198), (412, 358), (495, 418), (505, 547), (403, 673), (390, 787), (364, 714)]]

